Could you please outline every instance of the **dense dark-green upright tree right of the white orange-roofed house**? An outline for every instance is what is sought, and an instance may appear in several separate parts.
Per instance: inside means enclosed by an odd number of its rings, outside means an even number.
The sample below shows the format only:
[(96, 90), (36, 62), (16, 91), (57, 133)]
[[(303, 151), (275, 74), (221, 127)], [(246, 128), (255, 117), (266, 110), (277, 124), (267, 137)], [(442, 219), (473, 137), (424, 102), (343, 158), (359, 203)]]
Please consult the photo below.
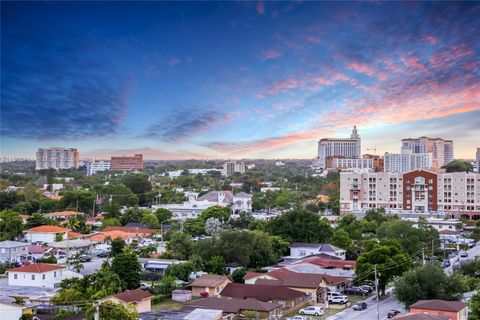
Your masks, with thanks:
[(131, 290), (140, 286), (141, 266), (133, 252), (124, 251), (113, 258), (112, 271), (118, 274), (124, 288)]

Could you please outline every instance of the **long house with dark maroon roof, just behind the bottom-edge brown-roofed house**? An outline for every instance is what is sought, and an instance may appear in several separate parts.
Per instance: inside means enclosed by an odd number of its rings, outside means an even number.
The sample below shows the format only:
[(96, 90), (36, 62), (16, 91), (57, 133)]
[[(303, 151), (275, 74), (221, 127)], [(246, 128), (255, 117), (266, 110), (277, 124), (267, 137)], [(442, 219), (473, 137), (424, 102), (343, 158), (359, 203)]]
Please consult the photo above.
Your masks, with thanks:
[(257, 285), (244, 283), (229, 283), (220, 293), (222, 298), (255, 299), (272, 302), (282, 308), (293, 308), (307, 300), (304, 292), (275, 285)]

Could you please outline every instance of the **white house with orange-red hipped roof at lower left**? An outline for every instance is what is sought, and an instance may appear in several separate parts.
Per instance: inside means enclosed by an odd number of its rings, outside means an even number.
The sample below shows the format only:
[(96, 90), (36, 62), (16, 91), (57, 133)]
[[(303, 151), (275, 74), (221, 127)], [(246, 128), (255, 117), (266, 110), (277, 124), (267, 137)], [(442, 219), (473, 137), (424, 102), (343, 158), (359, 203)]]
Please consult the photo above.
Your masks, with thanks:
[(9, 286), (54, 288), (65, 278), (66, 267), (56, 264), (32, 263), (7, 270)]

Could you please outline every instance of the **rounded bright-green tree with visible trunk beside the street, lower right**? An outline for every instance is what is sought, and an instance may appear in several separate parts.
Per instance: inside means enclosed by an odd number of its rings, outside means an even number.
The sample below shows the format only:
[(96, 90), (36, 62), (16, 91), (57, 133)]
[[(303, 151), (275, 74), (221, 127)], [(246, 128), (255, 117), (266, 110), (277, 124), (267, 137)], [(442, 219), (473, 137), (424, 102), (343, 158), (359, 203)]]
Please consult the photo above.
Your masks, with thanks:
[(385, 287), (394, 277), (402, 275), (411, 267), (411, 260), (397, 245), (377, 243), (368, 248), (357, 259), (355, 273), (373, 280), (374, 266), (377, 266), (379, 289), (385, 293)]

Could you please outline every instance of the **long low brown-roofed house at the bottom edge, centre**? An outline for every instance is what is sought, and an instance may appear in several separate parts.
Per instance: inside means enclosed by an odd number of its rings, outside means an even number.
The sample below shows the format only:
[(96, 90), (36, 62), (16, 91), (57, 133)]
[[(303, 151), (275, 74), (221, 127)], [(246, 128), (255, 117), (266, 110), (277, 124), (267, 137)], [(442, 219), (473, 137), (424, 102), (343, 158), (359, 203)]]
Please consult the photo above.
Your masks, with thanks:
[(223, 315), (234, 314), (238, 317), (254, 312), (256, 319), (277, 319), (282, 315), (281, 306), (275, 303), (253, 299), (216, 298), (209, 297), (187, 302), (181, 310), (193, 309), (222, 310)]

